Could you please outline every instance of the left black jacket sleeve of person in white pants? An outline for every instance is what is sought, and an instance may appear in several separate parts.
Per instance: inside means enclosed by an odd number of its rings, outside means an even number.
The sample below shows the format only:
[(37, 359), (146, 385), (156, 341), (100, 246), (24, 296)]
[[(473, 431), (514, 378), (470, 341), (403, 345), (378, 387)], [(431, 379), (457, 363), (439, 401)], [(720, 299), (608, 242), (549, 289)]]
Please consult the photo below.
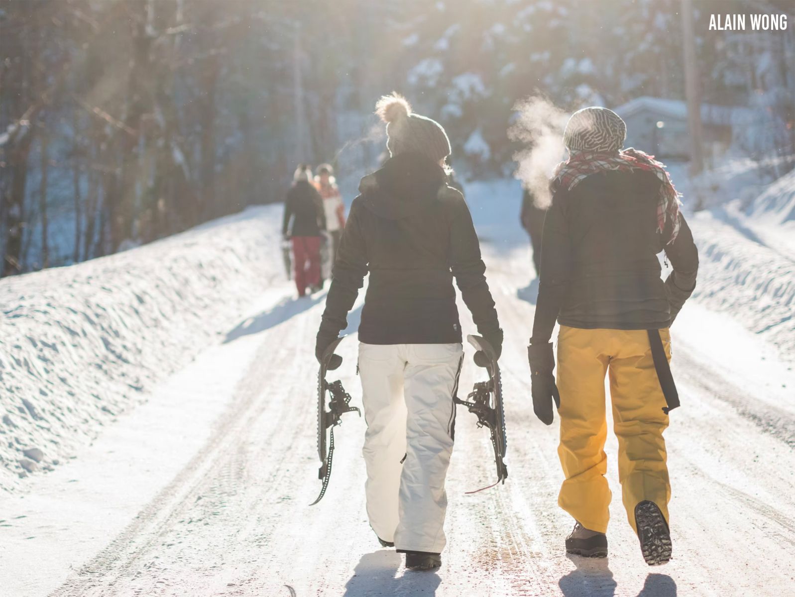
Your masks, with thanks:
[(318, 335), (336, 337), (347, 327), (347, 314), (353, 307), (367, 275), (367, 255), (361, 227), (361, 204), (357, 197), (351, 204), (334, 263), (332, 285), (326, 297), (326, 309)]

